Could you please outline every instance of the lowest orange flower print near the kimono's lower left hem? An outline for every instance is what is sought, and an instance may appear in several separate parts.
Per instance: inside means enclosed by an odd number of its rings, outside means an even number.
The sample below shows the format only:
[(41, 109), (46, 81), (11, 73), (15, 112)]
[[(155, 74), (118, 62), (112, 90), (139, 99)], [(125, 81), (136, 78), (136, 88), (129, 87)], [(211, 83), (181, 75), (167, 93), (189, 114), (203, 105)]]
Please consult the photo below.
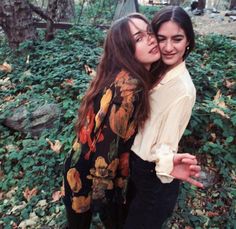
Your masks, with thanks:
[(91, 196), (74, 196), (72, 198), (72, 209), (76, 213), (83, 213), (90, 209)]

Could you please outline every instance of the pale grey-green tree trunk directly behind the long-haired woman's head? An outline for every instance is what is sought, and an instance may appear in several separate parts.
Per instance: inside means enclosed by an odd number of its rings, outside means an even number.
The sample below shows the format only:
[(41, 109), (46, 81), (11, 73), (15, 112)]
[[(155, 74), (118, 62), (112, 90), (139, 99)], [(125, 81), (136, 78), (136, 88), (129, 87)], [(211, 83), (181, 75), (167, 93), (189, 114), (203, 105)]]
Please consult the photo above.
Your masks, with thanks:
[(138, 0), (119, 0), (113, 20), (117, 20), (129, 13), (138, 11)]

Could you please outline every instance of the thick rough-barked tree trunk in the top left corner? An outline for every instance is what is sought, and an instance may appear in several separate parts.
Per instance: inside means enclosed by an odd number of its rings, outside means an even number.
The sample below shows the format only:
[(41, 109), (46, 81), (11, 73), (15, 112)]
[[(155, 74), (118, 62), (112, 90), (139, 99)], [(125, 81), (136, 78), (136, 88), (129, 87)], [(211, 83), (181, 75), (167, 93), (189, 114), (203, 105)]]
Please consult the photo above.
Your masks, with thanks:
[(32, 11), (26, 0), (1, 0), (0, 26), (12, 48), (18, 47), (25, 40), (37, 38)]

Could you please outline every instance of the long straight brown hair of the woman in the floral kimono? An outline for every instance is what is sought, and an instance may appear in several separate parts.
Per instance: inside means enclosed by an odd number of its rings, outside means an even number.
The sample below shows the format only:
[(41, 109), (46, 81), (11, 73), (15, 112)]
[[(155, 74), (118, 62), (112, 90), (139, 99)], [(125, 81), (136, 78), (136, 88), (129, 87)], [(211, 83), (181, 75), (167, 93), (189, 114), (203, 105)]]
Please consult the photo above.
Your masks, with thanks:
[(79, 131), (85, 123), (88, 109), (93, 104), (94, 98), (114, 82), (117, 73), (124, 69), (139, 82), (140, 101), (137, 104), (134, 118), (138, 125), (144, 123), (150, 112), (149, 89), (151, 88), (152, 73), (138, 62), (135, 57), (135, 41), (130, 32), (129, 22), (132, 18), (143, 20), (149, 25), (148, 20), (138, 13), (129, 14), (113, 23), (108, 31), (104, 53), (97, 67), (97, 75), (92, 80), (79, 109), (79, 118), (76, 130)]

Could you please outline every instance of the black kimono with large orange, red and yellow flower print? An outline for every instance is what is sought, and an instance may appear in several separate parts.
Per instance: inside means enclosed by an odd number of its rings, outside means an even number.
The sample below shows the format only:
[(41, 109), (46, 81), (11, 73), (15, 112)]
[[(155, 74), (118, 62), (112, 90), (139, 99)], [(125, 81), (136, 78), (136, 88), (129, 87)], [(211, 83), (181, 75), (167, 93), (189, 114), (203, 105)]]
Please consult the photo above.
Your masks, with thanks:
[(137, 130), (137, 83), (127, 72), (119, 72), (94, 100), (66, 159), (64, 203), (73, 221), (90, 212), (89, 226), (84, 228), (122, 227), (112, 214), (117, 218), (117, 206), (125, 203), (129, 150)]

